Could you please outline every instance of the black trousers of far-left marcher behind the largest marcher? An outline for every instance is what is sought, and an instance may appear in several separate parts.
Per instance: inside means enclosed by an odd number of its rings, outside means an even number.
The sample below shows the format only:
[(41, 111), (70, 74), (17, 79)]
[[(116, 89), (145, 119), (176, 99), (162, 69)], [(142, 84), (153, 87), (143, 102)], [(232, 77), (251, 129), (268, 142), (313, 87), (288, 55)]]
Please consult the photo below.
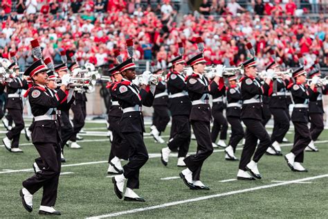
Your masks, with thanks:
[(8, 109), (8, 114), (12, 117), (15, 127), (7, 132), (8, 139), (12, 140), (11, 148), (18, 148), (21, 130), (24, 130), (25, 123), (23, 111), (21, 109)]

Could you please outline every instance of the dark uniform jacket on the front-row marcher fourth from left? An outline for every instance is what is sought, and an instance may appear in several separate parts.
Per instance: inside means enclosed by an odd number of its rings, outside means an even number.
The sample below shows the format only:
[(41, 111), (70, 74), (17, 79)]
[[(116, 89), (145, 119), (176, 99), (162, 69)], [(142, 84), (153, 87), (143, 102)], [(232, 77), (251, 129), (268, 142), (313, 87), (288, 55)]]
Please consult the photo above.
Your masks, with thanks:
[[(250, 78), (248, 76), (244, 76), (242, 80), (241, 90), (242, 90), (242, 113), (241, 119), (256, 119), (262, 120), (263, 118), (263, 108), (262, 108), (262, 96), (269, 96), (272, 92), (269, 91), (272, 88), (270, 85), (264, 83), (261, 84), (259, 78)], [(272, 83), (271, 83), (272, 84)], [(260, 103), (244, 103), (245, 100), (250, 99), (259, 100)]]

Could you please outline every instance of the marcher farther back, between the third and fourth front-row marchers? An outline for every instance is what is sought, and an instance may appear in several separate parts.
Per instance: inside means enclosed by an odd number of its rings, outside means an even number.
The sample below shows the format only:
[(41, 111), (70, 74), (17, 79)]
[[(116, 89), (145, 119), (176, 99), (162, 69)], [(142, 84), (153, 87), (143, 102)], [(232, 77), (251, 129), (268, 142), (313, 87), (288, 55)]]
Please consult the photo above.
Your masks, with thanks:
[(229, 87), (227, 87), (227, 109), (226, 116), (227, 121), (231, 125), (231, 136), (229, 139), (228, 147), (224, 149), (226, 152), (226, 160), (237, 161), (235, 156), (236, 148), (244, 138), (244, 128), (242, 121), (240, 120), (240, 114), (242, 109), (242, 92), (237, 84), (237, 76), (228, 76)]

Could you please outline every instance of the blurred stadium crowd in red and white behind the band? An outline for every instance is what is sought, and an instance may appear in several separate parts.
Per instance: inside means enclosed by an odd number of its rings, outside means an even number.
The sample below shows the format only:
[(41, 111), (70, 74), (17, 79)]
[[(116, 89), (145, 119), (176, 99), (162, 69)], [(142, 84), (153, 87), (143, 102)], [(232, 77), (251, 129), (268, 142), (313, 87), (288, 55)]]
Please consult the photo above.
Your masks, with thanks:
[[(264, 0), (265, 1), (265, 0)], [(249, 8), (249, 6), (251, 6)], [(165, 68), (183, 42), (185, 58), (197, 53), (201, 36), (207, 64), (236, 65), (246, 60), (246, 42), (257, 52), (259, 69), (271, 61), (272, 51), (289, 67), (298, 63), (297, 53), (307, 63), (328, 65), (328, 22), (298, 17), (293, 0), (274, 3), (252, 1), (243, 8), (235, 0), (201, 3), (199, 12), (180, 15), (170, 1), (156, 5), (140, 0), (11, 0), (1, 3), (0, 58), (17, 51), (21, 71), (33, 63), (30, 40), (39, 39), (44, 57), (60, 63), (60, 50), (75, 53), (80, 64), (96, 66), (115, 62), (119, 49), (127, 58), (125, 39), (134, 38), (135, 60), (158, 60)], [(306, 8), (302, 8), (307, 12)]]

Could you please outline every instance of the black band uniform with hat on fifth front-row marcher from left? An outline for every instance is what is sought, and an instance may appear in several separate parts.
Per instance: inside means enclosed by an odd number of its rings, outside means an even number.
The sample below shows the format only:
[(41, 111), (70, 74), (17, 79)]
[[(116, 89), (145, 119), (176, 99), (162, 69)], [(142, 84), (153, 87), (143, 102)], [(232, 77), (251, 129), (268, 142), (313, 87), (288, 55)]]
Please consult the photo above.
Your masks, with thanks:
[[(306, 74), (303, 67), (296, 69), (293, 72), (293, 78), (302, 74)], [(291, 152), (295, 156), (294, 162), (302, 163), (304, 160), (304, 149), (311, 142), (311, 134), (309, 127), (309, 100), (316, 101), (319, 93), (311, 88), (307, 88), (303, 84), (295, 83), (290, 88), (293, 96), (294, 108), (291, 114), (291, 121), (293, 121), (295, 135), (294, 143)], [(286, 155), (287, 156), (287, 155)], [(285, 157), (286, 157), (285, 156)], [(296, 170), (293, 164), (290, 165), (292, 170)]]

